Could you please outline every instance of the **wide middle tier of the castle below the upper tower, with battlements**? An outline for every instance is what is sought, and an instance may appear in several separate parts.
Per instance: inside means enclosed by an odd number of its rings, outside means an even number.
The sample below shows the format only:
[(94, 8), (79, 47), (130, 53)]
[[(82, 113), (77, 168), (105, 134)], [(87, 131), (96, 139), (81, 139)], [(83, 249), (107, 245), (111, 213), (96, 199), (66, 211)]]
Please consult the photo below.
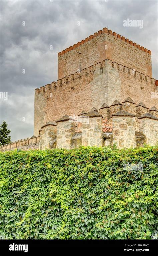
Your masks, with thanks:
[(35, 90), (34, 134), (38, 136), (41, 126), (50, 120), (79, 115), (83, 109), (99, 109), (103, 103), (110, 106), (115, 99), (122, 102), (129, 95), (136, 104), (157, 107), (156, 82), (109, 59), (70, 74)]

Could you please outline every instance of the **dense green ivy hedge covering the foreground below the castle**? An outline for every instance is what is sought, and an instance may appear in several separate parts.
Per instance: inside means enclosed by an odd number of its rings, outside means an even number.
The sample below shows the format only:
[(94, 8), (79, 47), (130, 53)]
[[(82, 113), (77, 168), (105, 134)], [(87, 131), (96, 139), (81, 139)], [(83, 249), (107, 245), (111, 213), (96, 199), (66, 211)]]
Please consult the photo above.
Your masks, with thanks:
[(0, 236), (152, 239), (157, 160), (156, 146), (1, 152)]

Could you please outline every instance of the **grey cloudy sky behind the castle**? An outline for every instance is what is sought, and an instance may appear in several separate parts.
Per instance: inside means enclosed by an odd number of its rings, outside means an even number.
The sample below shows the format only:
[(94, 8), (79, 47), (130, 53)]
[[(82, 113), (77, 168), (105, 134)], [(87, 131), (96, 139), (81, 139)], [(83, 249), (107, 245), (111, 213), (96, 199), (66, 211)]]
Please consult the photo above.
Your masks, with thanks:
[[(8, 100), (0, 99), (0, 124), (8, 123), (11, 140), (33, 135), (34, 89), (57, 80), (58, 52), (103, 27), (151, 50), (157, 79), (157, 5), (154, 0), (0, 0), (0, 91), (8, 92)], [(127, 18), (143, 20), (143, 28), (124, 27)]]

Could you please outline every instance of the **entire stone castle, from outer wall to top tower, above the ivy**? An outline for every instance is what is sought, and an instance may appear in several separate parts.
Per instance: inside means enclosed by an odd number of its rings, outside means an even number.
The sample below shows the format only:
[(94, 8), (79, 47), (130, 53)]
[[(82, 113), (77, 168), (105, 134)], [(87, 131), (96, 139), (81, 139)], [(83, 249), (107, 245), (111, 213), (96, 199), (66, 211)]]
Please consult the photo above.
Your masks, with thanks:
[[(35, 89), (34, 137), (1, 150), (157, 141), (158, 80), (150, 50), (103, 28), (58, 57), (59, 79)], [(89, 123), (70, 122), (83, 113)]]

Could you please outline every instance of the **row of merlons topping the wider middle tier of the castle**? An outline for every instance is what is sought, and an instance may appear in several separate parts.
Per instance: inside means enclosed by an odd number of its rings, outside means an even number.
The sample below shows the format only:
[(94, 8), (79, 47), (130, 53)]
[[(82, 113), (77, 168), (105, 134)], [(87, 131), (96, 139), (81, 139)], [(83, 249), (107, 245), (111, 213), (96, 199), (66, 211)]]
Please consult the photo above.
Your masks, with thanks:
[[(152, 85), (158, 86), (158, 80), (155, 80), (153, 77), (150, 77), (148, 75), (144, 75), (140, 73), (139, 71), (135, 70), (134, 68), (131, 67), (126, 67), (121, 64), (118, 64), (110, 59), (103, 60), (102, 62), (96, 63), (88, 68), (84, 68), (81, 71), (77, 71), (74, 74), (70, 74), (66, 77), (63, 77), (62, 79), (58, 79), (56, 82), (53, 81), (50, 84), (46, 84), (45, 86), (41, 86), (40, 88), (35, 89), (35, 93), (45, 93), (47, 91), (53, 90), (54, 88), (57, 89), (59, 86), (64, 86), (67, 83), (72, 82), (75, 79), (83, 79), (87, 78), (87, 76), (90, 74), (93, 74), (93, 72), (99, 68), (102, 69), (105, 66), (105, 62), (108, 63), (109, 66), (112, 68), (116, 69), (119, 72), (124, 72), (128, 75), (132, 75), (136, 79), (140, 79), (141, 81), (145, 81), (147, 83), (151, 83)], [(72, 88), (74, 89), (74, 88)]]

